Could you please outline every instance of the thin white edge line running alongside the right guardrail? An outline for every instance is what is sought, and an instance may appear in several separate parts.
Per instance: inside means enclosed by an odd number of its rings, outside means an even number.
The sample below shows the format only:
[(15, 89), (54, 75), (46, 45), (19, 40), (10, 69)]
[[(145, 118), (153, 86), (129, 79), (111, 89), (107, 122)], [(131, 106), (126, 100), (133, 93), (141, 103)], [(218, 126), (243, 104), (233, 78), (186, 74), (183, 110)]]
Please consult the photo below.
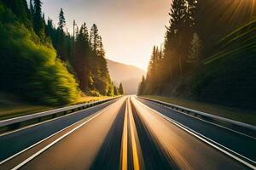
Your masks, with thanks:
[[(148, 100), (148, 101), (150, 101), (150, 100)], [(234, 130), (234, 129), (231, 129), (231, 128), (229, 128), (229, 127), (224, 127), (224, 126), (218, 125), (218, 124), (216, 124), (216, 123), (214, 123), (214, 122), (208, 122), (208, 121), (206, 121), (206, 120), (204, 120), (204, 119), (201, 119), (200, 117), (193, 116), (193, 115), (189, 115), (188, 113), (184, 113), (183, 111), (177, 111), (177, 110), (175, 110), (175, 109), (172, 109), (172, 108), (169, 107), (169, 106), (161, 105), (161, 104), (158, 104), (158, 103), (156, 103), (156, 102), (154, 102), (154, 101), (150, 101), (150, 102), (152, 102), (152, 103), (154, 103), (154, 104), (156, 104), (156, 105), (163, 106), (163, 107), (165, 107), (166, 109), (169, 109), (169, 110), (172, 110), (172, 111), (176, 111), (176, 112), (178, 112), (178, 113), (182, 113), (183, 115), (186, 115), (186, 116), (191, 116), (191, 117), (193, 117), (193, 118), (195, 118), (195, 119), (198, 119), (198, 120), (201, 120), (201, 121), (203, 121), (203, 122), (207, 122), (207, 123), (210, 123), (210, 124), (212, 124), (212, 125), (225, 128), (225, 129), (227, 129), (227, 130), (230, 130), (231, 132), (239, 133), (239, 134), (241, 134), (241, 135), (243, 135), (243, 136), (246, 136), (246, 137), (248, 137), (248, 138), (251, 138), (251, 139), (256, 140), (256, 138), (254, 138), (253, 136), (247, 135), (247, 134), (245, 134), (245, 133), (238, 132), (238, 131), (236, 131), (236, 130)]]

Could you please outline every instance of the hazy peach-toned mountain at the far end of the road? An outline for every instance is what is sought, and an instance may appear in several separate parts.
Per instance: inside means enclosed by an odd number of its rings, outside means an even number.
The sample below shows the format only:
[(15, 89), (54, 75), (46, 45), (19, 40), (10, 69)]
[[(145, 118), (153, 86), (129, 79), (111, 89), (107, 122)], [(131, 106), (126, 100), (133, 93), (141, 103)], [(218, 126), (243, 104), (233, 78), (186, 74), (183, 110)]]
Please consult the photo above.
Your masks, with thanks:
[(125, 88), (125, 94), (137, 94), (138, 84), (141, 82), (145, 71), (133, 65), (125, 65), (107, 59), (108, 71), (113, 83), (119, 86), (122, 82)]

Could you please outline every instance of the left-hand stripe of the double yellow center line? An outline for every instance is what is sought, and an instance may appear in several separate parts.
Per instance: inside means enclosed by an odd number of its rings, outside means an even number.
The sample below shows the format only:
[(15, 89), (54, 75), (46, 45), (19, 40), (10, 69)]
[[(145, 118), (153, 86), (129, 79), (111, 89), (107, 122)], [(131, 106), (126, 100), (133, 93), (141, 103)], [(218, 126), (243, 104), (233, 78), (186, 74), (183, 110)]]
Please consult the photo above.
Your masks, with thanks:
[(123, 137), (122, 137), (122, 170), (127, 170), (128, 164), (128, 112), (127, 112), (127, 100), (126, 100), (126, 106), (125, 106), (125, 121), (124, 121), (124, 128), (123, 128)]

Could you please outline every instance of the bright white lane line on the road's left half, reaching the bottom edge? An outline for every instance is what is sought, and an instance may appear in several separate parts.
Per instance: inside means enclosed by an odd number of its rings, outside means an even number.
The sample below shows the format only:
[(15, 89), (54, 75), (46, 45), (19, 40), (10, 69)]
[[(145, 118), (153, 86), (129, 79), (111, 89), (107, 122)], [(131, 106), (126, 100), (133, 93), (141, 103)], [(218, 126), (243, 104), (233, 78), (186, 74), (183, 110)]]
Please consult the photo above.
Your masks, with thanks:
[(19, 169), (20, 167), (24, 166), (27, 162), (32, 161), (32, 159), (34, 159), (35, 157), (39, 156), (41, 153), (43, 153), (45, 150), (48, 150), (51, 146), (53, 146), (54, 144), (56, 144), (57, 142), (59, 142), (61, 139), (66, 138), (69, 134), (73, 133), (74, 131), (76, 131), (77, 129), (79, 129), (80, 127), (83, 127), (87, 122), (90, 122), (92, 119), (96, 118), (97, 116), (102, 115), (103, 111), (100, 111), (98, 113), (96, 113), (95, 116), (92, 116), (90, 119), (88, 119), (87, 121), (83, 122), (82, 124), (80, 124), (78, 127), (74, 127), (71, 131), (69, 131), (68, 133), (65, 133), (64, 135), (62, 135), (60, 138), (55, 139), (55, 141), (53, 141), (52, 143), (46, 145), (42, 150), (39, 150), (38, 152), (36, 152), (35, 154), (33, 154), (32, 156), (28, 157), (25, 161), (22, 161), (19, 165), (17, 165), (16, 167), (12, 168), (12, 170), (16, 170)]

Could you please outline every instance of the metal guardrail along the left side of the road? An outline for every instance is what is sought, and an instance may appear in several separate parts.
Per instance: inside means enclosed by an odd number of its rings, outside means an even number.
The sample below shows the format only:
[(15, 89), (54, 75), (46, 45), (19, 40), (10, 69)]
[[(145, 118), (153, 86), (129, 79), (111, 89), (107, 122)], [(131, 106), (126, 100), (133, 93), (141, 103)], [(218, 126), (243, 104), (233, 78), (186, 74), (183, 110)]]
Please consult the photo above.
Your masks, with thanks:
[(9, 131), (9, 130), (14, 130), (19, 127), (24, 127), (27, 125), (31, 125), (33, 123), (37, 122), (44, 122), (49, 119), (53, 119), (58, 116), (64, 116), (70, 113), (73, 113), (75, 111), (81, 111), (86, 108), (89, 108), (94, 105), (100, 105), (102, 103), (108, 102), (113, 99), (117, 99), (119, 97), (111, 98), (111, 99), (102, 99), (99, 101), (95, 102), (90, 102), (86, 104), (79, 104), (79, 105), (71, 105), (67, 107), (62, 107), (59, 109), (55, 110), (50, 110), (50, 111), (42, 111), (39, 113), (34, 113), (26, 116), (18, 116), (6, 120), (0, 121), (0, 133)]

